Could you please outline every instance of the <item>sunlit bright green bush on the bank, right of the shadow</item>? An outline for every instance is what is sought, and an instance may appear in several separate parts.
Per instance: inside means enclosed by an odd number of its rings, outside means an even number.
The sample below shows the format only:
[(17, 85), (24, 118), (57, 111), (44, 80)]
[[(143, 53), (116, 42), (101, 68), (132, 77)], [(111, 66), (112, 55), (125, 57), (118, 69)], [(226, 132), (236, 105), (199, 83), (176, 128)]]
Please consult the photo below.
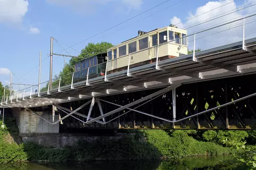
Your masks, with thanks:
[(148, 143), (154, 145), (163, 157), (186, 157), (200, 155), (221, 155), (229, 153), (228, 148), (221, 147), (212, 142), (202, 142), (188, 136), (185, 131), (170, 131), (168, 134), (161, 130), (144, 130)]

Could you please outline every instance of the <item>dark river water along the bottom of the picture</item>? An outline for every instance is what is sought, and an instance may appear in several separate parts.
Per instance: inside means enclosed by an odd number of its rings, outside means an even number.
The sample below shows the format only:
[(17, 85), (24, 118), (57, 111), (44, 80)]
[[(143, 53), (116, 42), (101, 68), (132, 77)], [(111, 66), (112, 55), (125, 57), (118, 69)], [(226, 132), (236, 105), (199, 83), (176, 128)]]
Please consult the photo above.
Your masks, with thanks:
[(99, 170), (99, 169), (122, 169), (122, 170), (155, 170), (155, 169), (241, 169), (234, 167), (234, 158), (231, 156), (221, 157), (190, 157), (173, 159), (169, 161), (138, 160), (138, 161), (90, 161), (86, 163), (69, 162), (65, 164), (0, 164), (1, 170)]

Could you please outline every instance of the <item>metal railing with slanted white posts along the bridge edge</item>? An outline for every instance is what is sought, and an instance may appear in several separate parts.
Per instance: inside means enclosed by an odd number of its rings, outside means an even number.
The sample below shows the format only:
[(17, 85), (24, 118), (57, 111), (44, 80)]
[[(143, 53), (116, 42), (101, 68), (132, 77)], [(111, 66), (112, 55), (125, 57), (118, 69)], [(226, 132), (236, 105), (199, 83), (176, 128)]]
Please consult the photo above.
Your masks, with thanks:
[[(197, 52), (195, 52), (197, 49), (200, 49), (202, 52), (215, 47), (228, 45), (236, 42), (243, 42), (243, 47), (244, 47), (245, 40), (256, 37), (256, 31), (254, 30), (256, 26), (255, 22), (256, 22), (256, 14), (251, 15), (249, 17), (242, 18), (242, 19), (237, 19), (228, 23), (224, 23), (222, 25), (215, 26), (213, 28), (209, 28), (203, 31), (199, 31), (198, 33), (187, 35), (186, 39), (187, 39), (188, 51), (193, 54), (193, 60), (196, 61), (196, 58), (206, 55), (201, 53), (200, 55), (197, 56)], [(181, 37), (179, 39), (182, 39), (182, 38), (185, 38), (185, 37)], [(156, 54), (154, 54), (154, 58), (156, 58), (154, 61), (155, 62), (154, 68), (158, 69), (158, 67), (160, 67), (158, 65), (158, 62), (159, 62), (158, 51), (161, 50), (160, 47), (168, 43), (177, 44), (175, 42), (181, 42), (181, 41), (180, 40), (177, 41), (177, 39), (174, 39), (172, 41), (158, 44), (156, 46), (145, 49), (145, 50), (149, 50), (149, 49), (155, 48), (157, 51)], [(236, 48), (239, 48), (239, 47), (234, 46), (232, 49), (229, 49), (229, 50), (234, 50)], [(139, 53), (139, 52), (141, 51), (134, 52), (134, 53)], [(210, 55), (211, 53), (214, 53), (214, 52), (207, 52), (207, 55)], [(1, 104), (24, 100), (25, 98), (28, 98), (28, 96), (29, 98), (32, 98), (32, 96), (34, 96), (35, 94), (33, 94), (34, 92), (31, 89), (38, 88), (38, 86), (40, 88), (38, 90), (37, 96), (41, 96), (41, 94), (44, 94), (44, 93), (50, 94), (52, 90), (56, 90), (56, 89), (58, 89), (58, 91), (61, 92), (61, 88), (65, 86), (67, 88), (74, 88), (74, 84), (77, 84), (79, 82), (86, 82), (85, 83), (86, 85), (90, 85), (90, 80), (95, 79), (97, 77), (104, 77), (104, 80), (107, 81), (108, 75), (110, 76), (110, 74), (114, 72), (112, 69), (108, 70), (107, 68), (110, 68), (110, 67), (115, 68), (118, 61), (126, 62), (127, 66), (125, 66), (123, 70), (122, 69), (117, 70), (117, 72), (127, 70), (127, 75), (129, 75), (129, 70), (131, 68), (141, 67), (141, 64), (132, 65), (130, 63), (130, 58), (132, 54), (129, 54), (128, 61), (127, 61), (127, 58), (125, 61), (122, 60), (124, 59), (125, 56), (127, 56), (125, 55), (114, 60), (108, 60), (107, 62), (97, 64), (96, 66), (91, 66), (89, 68), (85, 68), (85, 69), (73, 72), (72, 74), (55, 77), (52, 80), (53, 82), (52, 89), (50, 89), (49, 87), (50, 80), (48, 80), (36, 86), (31, 86), (31, 87), (24, 88), (20, 91), (15, 91), (11, 96), (6, 94), (5, 97), (2, 97), (0, 99)], [(151, 63), (150, 62), (143, 63), (143, 65), (145, 64), (151, 64)]]

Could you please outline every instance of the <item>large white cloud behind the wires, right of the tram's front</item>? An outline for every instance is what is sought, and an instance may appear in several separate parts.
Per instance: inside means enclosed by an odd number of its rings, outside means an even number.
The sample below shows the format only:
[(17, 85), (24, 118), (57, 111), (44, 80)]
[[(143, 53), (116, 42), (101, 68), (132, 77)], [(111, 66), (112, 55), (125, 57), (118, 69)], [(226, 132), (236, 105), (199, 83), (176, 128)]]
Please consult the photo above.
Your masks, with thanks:
[[(252, 0), (246, 0), (244, 5), (251, 3), (251, 1)], [(203, 6), (199, 6), (196, 9), (195, 13), (188, 13), (188, 17), (183, 19), (185, 20), (185, 22), (180, 23), (181, 22), (180, 18), (173, 17), (171, 19), (171, 23), (173, 25), (178, 26), (178, 28), (186, 29), (188, 31), (188, 35), (191, 35), (194, 33), (198, 33), (201, 30), (211, 28), (213, 26), (221, 25), (223, 23), (227, 23), (230, 21), (243, 18), (243, 14), (246, 14), (252, 10), (251, 8), (249, 8), (246, 10), (236, 11), (235, 9), (237, 7), (238, 7), (237, 4), (231, 0), (211, 1), (206, 3)], [(240, 6), (239, 9), (241, 8), (242, 7)], [(233, 12), (233, 13), (228, 14), (230, 12)], [(228, 14), (228, 15), (225, 15), (225, 14)], [(225, 15), (225, 17), (214, 19), (214, 18), (220, 17), (220, 15)], [(255, 19), (256, 17), (254, 17), (253, 20), (255, 21)], [(245, 22), (248, 23), (249, 21), (246, 20)], [(252, 26), (252, 24), (254, 24), (254, 27)], [(252, 23), (252, 24), (246, 25), (245, 31), (247, 32), (251, 31), (253, 34), (250, 34), (250, 36), (252, 35), (255, 36), (255, 31), (253, 32), (252, 30), (250, 30), (251, 28), (255, 28), (255, 23)], [(197, 39), (196, 48), (207, 50), (209, 48), (214, 48), (217, 46), (242, 41), (242, 38), (243, 38), (242, 25), (243, 25), (243, 20), (240, 20), (225, 26), (221, 26), (218, 28), (205, 31), (203, 33), (196, 34), (196, 39)], [(195, 27), (191, 27), (191, 26), (195, 26)], [(188, 37), (188, 47), (190, 50), (191, 48), (194, 47), (194, 36)]]

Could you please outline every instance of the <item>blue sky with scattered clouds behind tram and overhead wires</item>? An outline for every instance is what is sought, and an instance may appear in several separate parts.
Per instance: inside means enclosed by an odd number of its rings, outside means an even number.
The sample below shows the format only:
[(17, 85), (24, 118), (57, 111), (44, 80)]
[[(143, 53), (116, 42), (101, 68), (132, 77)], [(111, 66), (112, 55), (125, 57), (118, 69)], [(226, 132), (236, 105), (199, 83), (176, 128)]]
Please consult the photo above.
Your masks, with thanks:
[[(171, 23), (178, 28), (188, 28), (188, 34), (193, 34), (246, 14), (254, 14), (256, 5), (242, 8), (255, 3), (256, 0), (0, 0), (0, 82), (10, 84), (13, 72), (13, 83), (37, 84), (40, 51), (41, 82), (49, 80), (51, 37), (57, 39), (63, 48), (77, 44), (66, 52), (54, 42), (54, 53), (78, 55), (88, 43), (104, 41), (117, 45), (137, 36), (138, 30), (150, 31)], [(229, 11), (233, 13), (189, 28)], [(87, 39), (132, 17), (105, 33)], [(234, 35), (223, 34), (220, 37), (239, 40)], [(219, 45), (220, 39), (211, 39), (211, 42)], [(65, 61), (69, 59), (66, 57)], [(53, 74), (58, 75), (63, 65), (63, 57), (54, 55)], [(24, 86), (13, 85), (14, 90), (19, 88)]]

